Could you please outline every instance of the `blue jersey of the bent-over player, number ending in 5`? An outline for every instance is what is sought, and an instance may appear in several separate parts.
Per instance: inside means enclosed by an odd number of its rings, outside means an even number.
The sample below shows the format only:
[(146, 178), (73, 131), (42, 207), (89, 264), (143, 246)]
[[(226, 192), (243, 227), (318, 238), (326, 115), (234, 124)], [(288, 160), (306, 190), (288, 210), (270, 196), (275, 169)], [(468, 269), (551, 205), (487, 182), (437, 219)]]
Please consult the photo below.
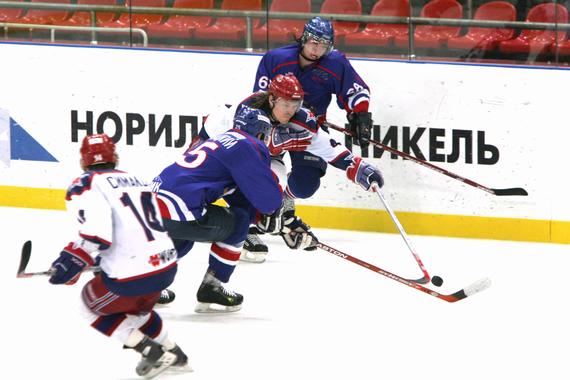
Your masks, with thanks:
[(263, 214), (278, 209), (282, 201), (269, 150), (236, 129), (191, 146), (154, 184), (161, 213), (172, 220), (199, 219), (208, 204), (236, 188)]

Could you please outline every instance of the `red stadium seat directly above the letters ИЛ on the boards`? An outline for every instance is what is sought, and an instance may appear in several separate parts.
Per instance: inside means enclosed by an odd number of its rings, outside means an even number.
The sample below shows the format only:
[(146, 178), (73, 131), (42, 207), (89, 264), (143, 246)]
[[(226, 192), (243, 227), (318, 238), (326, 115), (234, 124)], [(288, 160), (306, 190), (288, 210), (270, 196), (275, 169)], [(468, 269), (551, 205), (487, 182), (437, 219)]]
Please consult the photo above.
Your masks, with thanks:
[[(212, 9), (214, 0), (175, 0), (173, 8), (200, 8)], [(190, 38), (194, 29), (205, 28), (212, 23), (207, 16), (172, 15), (164, 24), (155, 24), (147, 27), (150, 37), (160, 38)]]

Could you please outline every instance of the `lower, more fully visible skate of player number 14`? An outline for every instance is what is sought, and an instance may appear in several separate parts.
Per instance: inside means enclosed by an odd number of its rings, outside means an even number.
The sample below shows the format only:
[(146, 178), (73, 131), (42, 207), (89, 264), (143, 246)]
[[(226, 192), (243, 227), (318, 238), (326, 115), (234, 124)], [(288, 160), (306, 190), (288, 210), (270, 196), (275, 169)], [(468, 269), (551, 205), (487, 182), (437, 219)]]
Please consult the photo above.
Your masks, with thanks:
[(142, 355), (136, 368), (137, 374), (145, 379), (157, 376), (173, 365), (178, 358), (175, 353), (165, 351), (160, 344), (146, 336), (134, 349)]

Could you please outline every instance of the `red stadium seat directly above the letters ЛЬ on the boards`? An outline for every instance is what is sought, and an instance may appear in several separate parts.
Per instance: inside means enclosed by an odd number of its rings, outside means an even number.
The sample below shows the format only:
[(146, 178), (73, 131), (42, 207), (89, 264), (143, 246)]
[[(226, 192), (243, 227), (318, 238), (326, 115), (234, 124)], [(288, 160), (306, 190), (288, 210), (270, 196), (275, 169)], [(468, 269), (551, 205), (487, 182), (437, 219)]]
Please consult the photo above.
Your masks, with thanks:
[[(506, 1), (491, 1), (477, 8), (473, 18), (475, 20), (515, 21), (517, 10), (513, 4)], [(472, 27), (466, 35), (450, 38), (447, 41), (447, 47), (490, 51), (497, 48), (500, 42), (513, 38), (514, 34), (513, 29)]]

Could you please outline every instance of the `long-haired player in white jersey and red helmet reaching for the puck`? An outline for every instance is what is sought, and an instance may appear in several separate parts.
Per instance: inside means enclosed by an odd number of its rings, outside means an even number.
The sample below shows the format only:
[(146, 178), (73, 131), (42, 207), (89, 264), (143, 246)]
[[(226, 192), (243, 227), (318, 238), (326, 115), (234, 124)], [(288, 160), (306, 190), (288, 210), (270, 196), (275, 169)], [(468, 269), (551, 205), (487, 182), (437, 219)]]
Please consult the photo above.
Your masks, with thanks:
[[(311, 157), (323, 160), (325, 165), (328, 163), (344, 170), (349, 180), (366, 190), (370, 189), (372, 182), (382, 186), (383, 179), (377, 168), (353, 155), (327, 131), (320, 128), (314, 114), (302, 107), (303, 97), (301, 84), (294, 75), (279, 74), (271, 81), (268, 91), (256, 92), (236, 106), (224, 105), (210, 114), (200, 130), (199, 137), (204, 141), (209, 136), (215, 136), (230, 128), (228, 123), (233, 120), (236, 108), (239, 110), (240, 107), (252, 107), (268, 115), (272, 125), (279, 127), (279, 134), (272, 139), (268, 147), (271, 167), (279, 177), (285, 194), (282, 207), (271, 215), (264, 215), (256, 226), (263, 232), (279, 234), (291, 249), (313, 250), (316, 249), (316, 237), (310, 227), (294, 214), (292, 199), (295, 195), (289, 192), (291, 177), (287, 178), (283, 154), (286, 151), (310, 153)], [(257, 238), (257, 235), (248, 235), (240, 259), (263, 262), (265, 254), (252, 250), (252, 244), (249, 242), (251, 236)]]

